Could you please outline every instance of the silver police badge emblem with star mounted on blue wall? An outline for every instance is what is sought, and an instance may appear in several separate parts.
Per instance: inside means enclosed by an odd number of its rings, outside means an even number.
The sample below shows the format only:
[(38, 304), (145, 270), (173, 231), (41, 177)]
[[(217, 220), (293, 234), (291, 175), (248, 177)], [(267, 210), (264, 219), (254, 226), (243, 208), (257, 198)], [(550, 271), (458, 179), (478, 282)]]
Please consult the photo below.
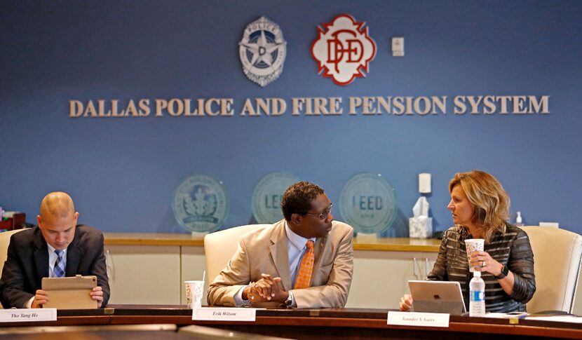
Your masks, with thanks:
[(283, 72), (287, 41), (279, 25), (261, 17), (245, 28), (243, 39), (238, 43), (238, 55), (247, 78), (266, 86)]

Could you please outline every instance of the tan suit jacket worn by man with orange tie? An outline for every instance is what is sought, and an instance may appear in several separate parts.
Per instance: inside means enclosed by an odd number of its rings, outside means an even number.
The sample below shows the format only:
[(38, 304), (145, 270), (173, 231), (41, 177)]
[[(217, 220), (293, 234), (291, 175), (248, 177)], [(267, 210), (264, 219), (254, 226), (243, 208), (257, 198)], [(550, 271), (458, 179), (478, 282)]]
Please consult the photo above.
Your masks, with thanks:
[[(291, 291), (297, 308), (343, 307), (348, 299), (353, 273), (353, 229), (332, 222), (327, 237), (317, 238), (311, 285), (292, 290), (287, 252), (285, 220), (241, 236), (238, 251), (208, 289), (208, 304), (235, 306), (234, 295), (241, 287), (261, 279), (261, 273), (280, 277), (280, 289)], [(280, 303), (252, 304), (278, 307)]]

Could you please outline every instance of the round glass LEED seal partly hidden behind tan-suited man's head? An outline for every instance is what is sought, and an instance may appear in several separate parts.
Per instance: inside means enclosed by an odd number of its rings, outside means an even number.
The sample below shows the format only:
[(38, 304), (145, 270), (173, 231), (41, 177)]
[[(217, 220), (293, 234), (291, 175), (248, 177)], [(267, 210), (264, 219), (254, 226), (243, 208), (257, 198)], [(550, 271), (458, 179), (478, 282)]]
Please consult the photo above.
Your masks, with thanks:
[(299, 179), (290, 173), (273, 172), (263, 177), (252, 192), (252, 215), (257, 223), (275, 223), (283, 219), (281, 198)]

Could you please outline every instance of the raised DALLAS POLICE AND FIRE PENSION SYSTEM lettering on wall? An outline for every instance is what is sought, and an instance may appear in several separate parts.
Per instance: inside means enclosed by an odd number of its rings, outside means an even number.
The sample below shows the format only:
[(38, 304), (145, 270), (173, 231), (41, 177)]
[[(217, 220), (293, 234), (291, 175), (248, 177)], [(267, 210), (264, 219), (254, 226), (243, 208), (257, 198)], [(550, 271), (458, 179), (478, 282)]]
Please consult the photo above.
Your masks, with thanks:
[[(452, 102), (452, 103), (451, 103)], [(233, 98), (156, 98), (150, 100), (69, 100), (70, 118), (341, 116), (342, 97), (246, 98), (237, 109)], [(451, 105), (452, 104), (452, 105)], [(348, 97), (348, 116), (438, 116), (550, 114), (549, 95), (456, 95)], [(451, 107), (449, 109), (449, 107)]]

